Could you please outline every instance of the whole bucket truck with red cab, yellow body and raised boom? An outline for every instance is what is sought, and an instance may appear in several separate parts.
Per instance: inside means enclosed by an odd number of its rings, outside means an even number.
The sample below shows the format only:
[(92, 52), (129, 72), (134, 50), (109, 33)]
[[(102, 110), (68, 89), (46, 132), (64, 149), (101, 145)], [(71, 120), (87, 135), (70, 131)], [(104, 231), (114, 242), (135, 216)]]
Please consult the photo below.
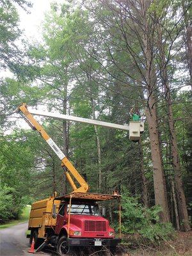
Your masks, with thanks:
[[(121, 241), (121, 196), (116, 191), (113, 195), (88, 193), (89, 187), (87, 182), (77, 172), (72, 163), (68, 161), (58, 145), (49, 137), (42, 125), (36, 121), (32, 113), (115, 129), (124, 129), (126, 131), (129, 130), (129, 126), (78, 118), (76, 116), (40, 113), (34, 110), (29, 111), (24, 103), (19, 106), (18, 110), (22, 112), (29, 126), (40, 133), (42, 138), (60, 158), (61, 166), (72, 188), (72, 192), (68, 195), (56, 196), (56, 193), (54, 193), (53, 196), (31, 205), (28, 225), (28, 230), (31, 232), (29, 235), (30, 243), (32, 243), (33, 239), (35, 240), (36, 251), (41, 250), (48, 243), (52, 244), (61, 256), (67, 255), (76, 246), (92, 246), (95, 248), (106, 246), (106, 248), (109, 248), (114, 253), (116, 245)], [(140, 126), (138, 123), (132, 126), (131, 136), (134, 137), (134, 140), (137, 140), (143, 126)], [(98, 202), (114, 199), (119, 202), (120, 235), (118, 238), (115, 238), (114, 229), (109, 225), (109, 221), (104, 218), (104, 207), (102, 207), (101, 213), (98, 205)]]

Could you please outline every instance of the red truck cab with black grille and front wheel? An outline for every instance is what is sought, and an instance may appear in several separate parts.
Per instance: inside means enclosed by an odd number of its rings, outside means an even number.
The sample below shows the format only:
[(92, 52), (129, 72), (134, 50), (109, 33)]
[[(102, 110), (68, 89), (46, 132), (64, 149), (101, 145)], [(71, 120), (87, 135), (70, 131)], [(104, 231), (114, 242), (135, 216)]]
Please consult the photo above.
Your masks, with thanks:
[(55, 234), (59, 237), (57, 250), (60, 255), (66, 255), (74, 246), (106, 246), (115, 252), (120, 243), (94, 200), (72, 200), (71, 204), (68, 200), (61, 201)]

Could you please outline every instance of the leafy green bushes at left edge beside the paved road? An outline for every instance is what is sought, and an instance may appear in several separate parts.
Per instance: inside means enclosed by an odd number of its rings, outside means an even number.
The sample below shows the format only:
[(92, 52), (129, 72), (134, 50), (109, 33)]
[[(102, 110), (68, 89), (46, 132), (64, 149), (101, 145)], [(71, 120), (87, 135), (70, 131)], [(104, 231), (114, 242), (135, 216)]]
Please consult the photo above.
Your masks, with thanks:
[[(26, 132), (28, 134), (28, 132)], [(15, 131), (0, 136), (1, 222), (18, 219), (24, 205), (31, 202), (33, 147), (23, 143), (25, 133)]]

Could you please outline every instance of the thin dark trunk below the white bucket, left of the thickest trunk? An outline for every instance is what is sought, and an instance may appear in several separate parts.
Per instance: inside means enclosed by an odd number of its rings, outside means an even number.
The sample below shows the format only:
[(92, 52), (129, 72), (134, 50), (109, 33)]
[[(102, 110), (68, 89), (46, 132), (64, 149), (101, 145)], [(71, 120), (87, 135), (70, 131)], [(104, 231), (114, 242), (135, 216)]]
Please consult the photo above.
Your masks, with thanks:
[(148, 207), (148, 187), (147, 187), (147, 179), (145, 177), (145, 169), (143, 164), (143, 147), (141, 145), (141, 138), (139, 141), (139, 147), (140, 147), (140, 173), (141, 173), (141, 180), (142, 180), (142, 201), (143, 205), (145, 207)]

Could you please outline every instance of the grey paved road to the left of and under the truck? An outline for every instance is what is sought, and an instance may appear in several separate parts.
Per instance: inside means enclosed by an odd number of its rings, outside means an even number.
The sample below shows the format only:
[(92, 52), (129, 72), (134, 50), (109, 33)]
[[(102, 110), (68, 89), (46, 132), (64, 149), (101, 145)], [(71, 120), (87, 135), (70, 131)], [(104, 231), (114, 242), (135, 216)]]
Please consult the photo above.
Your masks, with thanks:
[[(28, 253), (29, 239), (26, 238), (28, 223), (20, 223), (10, 228), (0, 230), (0, 255), (1, 256), (22, 256), (33, 255)], [(42, 256), (56, 255), (46, 251), (39, 252)]]

